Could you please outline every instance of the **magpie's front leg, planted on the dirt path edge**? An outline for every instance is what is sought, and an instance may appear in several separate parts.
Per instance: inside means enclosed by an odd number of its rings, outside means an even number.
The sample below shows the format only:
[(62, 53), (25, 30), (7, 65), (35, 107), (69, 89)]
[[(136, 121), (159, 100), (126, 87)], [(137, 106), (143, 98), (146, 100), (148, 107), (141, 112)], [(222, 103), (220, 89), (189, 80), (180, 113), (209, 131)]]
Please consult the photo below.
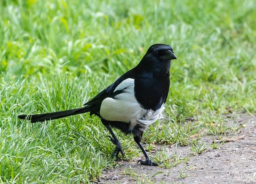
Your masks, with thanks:
[(146, 160), (138, 160), (138, 163), (140, 162), (140, 164), (142, 165), (147, 165), (147, 166), (158, 166), (158, 164), (156, 164), (155, 162), (153, 162), (148, 154), (146, 153), (146, 150), (144, 149), (143, 145), (140, 143), (141, 141), (141, 138), (142, 138), (142, 134), (143, 134), (143, 131), (138, 129), (136, 133), (134, 133), (133, 135), (133, 138), (135, 140), (135, 142), (138, 144), (138, 146), (140, 147), (140, 149), (142, 150)]

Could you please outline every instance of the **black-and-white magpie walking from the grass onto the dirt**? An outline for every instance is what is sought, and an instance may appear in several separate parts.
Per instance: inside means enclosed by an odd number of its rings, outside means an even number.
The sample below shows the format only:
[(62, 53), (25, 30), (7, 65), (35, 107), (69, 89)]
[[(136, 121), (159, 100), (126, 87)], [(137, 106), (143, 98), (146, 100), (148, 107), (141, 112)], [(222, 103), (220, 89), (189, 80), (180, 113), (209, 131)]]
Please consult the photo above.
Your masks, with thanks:
[(146, 153), (141, 140), (145, 128), (163, 117), (170, 87), (171, 61), (177, 59), (170, 45), (154, 44), (148, 48), (136, 67), (121, 75), (112, 85), (102, 90), (78, 109), (36, 115), (18, 115), (31, 123), (60, 119), (81, 113), (90, 113), (101, 119), (110, 132), (110, 141), (116, 145), (112, 156), (124, 154), (112, 128), (133, 135), (145, 160), (142, 165), (158, 166)]

